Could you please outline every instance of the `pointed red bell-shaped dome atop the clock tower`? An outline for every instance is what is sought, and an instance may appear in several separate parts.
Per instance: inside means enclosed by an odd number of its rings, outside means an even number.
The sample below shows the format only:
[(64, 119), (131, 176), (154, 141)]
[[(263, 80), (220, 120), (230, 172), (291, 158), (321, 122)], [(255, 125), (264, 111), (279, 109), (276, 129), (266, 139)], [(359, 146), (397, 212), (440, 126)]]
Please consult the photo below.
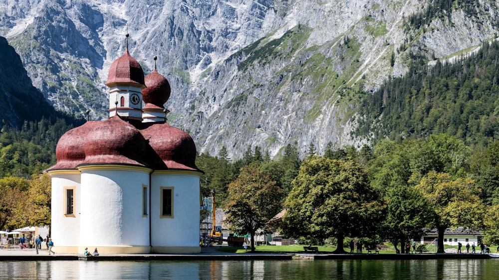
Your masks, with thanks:
[(107, 74), (106, 86), (112, 87), (118, 83), (135, 83), (144, 88), (144, 71), (140, 64), (125, 49), (125, 53), (113, 61)]

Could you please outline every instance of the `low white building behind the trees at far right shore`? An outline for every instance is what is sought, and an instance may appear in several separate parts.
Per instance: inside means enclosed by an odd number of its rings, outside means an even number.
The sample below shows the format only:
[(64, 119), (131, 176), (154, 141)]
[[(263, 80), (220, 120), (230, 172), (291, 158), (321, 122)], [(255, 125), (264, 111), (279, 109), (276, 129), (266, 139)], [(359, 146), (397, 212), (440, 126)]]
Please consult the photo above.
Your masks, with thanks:
[[(427, 229), (426, 234), (421, 238), (421, 244), (430, 244), (438, 237), (437, 229)], [(482, 242), (481, 231), (471, 228), (458, 227), (456, 229), (447, 228), (444, 232), (444, 245), (457, 246), (459, 242), (466, 246), (467, 243), (478, 245)]]

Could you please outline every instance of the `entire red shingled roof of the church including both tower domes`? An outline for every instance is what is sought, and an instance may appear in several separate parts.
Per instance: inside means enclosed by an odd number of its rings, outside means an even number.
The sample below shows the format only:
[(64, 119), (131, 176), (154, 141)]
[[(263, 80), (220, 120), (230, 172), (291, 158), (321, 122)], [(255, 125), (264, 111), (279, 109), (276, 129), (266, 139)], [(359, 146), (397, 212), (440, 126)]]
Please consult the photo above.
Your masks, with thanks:
[[(156, 69), (146, 77), (128, 49), (109, 69), (106, 85), (140, 84), (144, 111), (163, 110), (171, 93), (168, 80)], [(147, 88), (145, 88), (147, 86)], [(65, 133), (57, 143), (57, 164), (50, 170), (76, 169), (81, 165), (124, 164), (155, 170), (200, 171), (191, 136), (166, 122), (140, 123), (115, 115), (105, 121), (89, 121)]]

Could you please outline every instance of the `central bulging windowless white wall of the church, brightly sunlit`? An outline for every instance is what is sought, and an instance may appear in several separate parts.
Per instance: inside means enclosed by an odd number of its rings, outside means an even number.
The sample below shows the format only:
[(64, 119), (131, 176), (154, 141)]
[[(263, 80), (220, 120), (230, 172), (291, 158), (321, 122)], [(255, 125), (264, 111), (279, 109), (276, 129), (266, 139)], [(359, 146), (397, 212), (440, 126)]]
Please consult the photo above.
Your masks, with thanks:
[(149, 216), (143, 215), (142, 206), (149, 169), (95, 168), (82, 168), (81, 173), (85, 204), (81, 205), (80, 245), (149, 248)]

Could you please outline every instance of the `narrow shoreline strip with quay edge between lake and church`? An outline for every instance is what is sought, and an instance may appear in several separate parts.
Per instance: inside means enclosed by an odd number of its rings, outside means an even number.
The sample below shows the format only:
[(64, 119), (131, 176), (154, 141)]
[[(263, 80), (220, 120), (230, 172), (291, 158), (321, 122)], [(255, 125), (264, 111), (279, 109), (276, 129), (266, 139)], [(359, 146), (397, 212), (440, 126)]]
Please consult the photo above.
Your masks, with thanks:
[[(56, 248), (54, 248), (56, 249)], [(217, 247), (204, 247), (200, 254), (128, 254), (83, 256), (83, 254), (47, 255), (46, 249), (1, 249), (0, 261), (249, 261), (249, 260), (488, 260), (499, 254), (307, 254), (307, 253), (224, 253)]]

